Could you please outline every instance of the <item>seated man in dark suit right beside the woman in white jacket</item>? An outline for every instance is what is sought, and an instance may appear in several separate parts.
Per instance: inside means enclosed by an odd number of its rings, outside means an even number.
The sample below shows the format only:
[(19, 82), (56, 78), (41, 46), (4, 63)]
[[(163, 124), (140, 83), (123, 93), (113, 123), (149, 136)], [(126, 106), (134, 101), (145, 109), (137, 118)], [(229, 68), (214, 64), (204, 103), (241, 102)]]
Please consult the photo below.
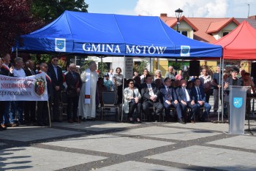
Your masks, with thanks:
[(154, 115), (149, 114), (149, 107), (153, 106), (155, 113), (160, 115), (163, 110), (161, 102), (159, 102), (161, 93), (154, 83), (152, 83), (151, 75), (146, 75), (146, 83), (143, 83), (141, 94), (143, 96), (143, 111), (148, 114), (149, 121), (155, 121)]

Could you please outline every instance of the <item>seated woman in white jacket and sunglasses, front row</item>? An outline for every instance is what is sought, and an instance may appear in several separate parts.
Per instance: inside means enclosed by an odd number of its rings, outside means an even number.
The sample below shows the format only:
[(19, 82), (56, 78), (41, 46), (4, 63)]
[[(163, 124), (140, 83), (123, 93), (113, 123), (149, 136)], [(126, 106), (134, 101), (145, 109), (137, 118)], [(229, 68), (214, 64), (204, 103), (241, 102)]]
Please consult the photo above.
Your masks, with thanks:
[(124, 89), (124, 113), (128, 113), (129, 122), (133, 122), (132, 114), (137, 109), (137, 121), (140, 121), (140, 91), (135, 88), (134, 81), (132, 79), (127, 80), (128, 87)]

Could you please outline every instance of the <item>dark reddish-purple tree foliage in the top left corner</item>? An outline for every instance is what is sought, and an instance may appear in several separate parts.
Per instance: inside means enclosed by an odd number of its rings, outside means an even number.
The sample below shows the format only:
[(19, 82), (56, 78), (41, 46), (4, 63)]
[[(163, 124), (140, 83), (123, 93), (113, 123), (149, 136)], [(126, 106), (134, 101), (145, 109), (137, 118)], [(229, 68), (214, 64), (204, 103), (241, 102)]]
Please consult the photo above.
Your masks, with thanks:
[(0, 53), (10, 53), (15, 39), (42, 26), (31, 17), (31, 0), (0, 1)]

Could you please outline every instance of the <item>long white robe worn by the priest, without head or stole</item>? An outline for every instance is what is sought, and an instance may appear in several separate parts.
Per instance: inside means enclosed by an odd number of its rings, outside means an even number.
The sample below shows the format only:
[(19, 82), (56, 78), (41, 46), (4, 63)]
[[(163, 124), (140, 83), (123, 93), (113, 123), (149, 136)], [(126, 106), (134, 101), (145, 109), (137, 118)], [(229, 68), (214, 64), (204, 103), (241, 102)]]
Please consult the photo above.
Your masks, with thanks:
[(98, 75), (97, 72), (91, 72), (90, 77), (90, 91), (91, 91), (91, 102), (90, 104), (85, 104), (85, 94), (86, 94), (86, 72), (87, 69), (81, 74), (81, 80), (83, 82), (83, 86), (81, 88), (80, 96), (79, 96), (79, 115), (82, 115), (83, 118), (95, 118), (96, 117), (96, 90), (97, 90), (97, 80)]

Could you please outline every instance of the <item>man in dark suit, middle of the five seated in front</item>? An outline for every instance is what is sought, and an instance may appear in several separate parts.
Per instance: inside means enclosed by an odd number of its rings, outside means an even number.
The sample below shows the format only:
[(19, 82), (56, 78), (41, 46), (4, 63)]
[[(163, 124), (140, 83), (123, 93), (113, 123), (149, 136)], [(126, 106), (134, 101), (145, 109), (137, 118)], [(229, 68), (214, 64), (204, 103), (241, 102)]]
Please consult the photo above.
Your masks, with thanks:
[(166, 77), (164, 80), (164, 86), (160, 88), (162, 93), (162, 103), (165, 107), (165, 117), (167, 121), (170, 121), (170, 107), (175, 107), (178, 114), (178, 122), (185, 123), (182, 117), (181, 104), (178, 103), (178, 98), (173, 87), (170, 87), (171, 80)]

